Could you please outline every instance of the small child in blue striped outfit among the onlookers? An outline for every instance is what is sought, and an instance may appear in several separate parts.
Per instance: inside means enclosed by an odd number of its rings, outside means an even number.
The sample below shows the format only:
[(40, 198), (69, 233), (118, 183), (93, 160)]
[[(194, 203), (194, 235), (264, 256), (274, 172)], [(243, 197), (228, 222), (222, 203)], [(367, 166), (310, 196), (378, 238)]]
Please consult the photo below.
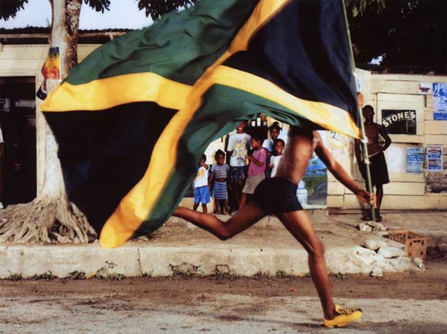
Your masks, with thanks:
[(211, 167), (209, 183), (212, 185), (215, 213), (228, 213), (227, 188), (230, 181), (228, 177), (230, 167), (223, 163), (225, 161), (225, 153), (223, 151), (218, 150), (214, 158), (216, 159), (216, 164)]

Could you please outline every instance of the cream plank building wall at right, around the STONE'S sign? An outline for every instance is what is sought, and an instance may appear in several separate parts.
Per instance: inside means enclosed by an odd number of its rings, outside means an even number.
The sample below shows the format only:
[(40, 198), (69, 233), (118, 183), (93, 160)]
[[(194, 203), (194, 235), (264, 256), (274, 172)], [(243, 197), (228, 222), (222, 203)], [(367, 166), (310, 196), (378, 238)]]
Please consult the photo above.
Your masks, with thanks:
[[(433, 119), (432, 92), (421, 93), (420, 83), (447, 82), (446, 76), (388, 75), (362, 73), (362, 92), (365, 103), (372, 105), (375, 121), (381, 123), (381, 109), (416, 110), (415, 135), (390, 135), (393, 144), (386, 151), (390, 183), (384, 185), (382, 208), (385, 209), (447, 209), (447, 121)], [(353, 141), (346, 138), (347, 156), (336, 157), (359, 184), (364, 184), (353, 155)], [(332, 141), (331, 141), (332, 142)], [(421, 174), (406, 172), (406, 149), (437, 144), (444, 146), (443, 172), (428, 172), (426, 161)], [(359, 208), (358, 200), (343, 185), (332, 182), (328, 187), (328, 206)]]

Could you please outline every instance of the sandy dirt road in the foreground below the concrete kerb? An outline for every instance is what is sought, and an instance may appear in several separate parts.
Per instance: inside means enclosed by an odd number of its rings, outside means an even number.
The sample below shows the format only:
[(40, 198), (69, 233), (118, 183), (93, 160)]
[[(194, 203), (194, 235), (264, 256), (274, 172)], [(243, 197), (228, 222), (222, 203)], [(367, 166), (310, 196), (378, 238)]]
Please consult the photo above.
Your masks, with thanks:
[(358, 324), (328, 330), (309, 277), (0, 281), (0, 333), (446, 333), (447, 261), (331, 277)]

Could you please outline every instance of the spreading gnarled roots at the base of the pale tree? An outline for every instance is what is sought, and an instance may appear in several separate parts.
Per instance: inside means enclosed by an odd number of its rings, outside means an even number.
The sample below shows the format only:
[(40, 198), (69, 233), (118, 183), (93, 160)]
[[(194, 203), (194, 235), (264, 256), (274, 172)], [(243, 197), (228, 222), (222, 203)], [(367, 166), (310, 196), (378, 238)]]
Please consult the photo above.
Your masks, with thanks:
[(65, 195), (36, 198), (0, 211), (0, 242), (89, 243), (95, 239), (94, 229)]

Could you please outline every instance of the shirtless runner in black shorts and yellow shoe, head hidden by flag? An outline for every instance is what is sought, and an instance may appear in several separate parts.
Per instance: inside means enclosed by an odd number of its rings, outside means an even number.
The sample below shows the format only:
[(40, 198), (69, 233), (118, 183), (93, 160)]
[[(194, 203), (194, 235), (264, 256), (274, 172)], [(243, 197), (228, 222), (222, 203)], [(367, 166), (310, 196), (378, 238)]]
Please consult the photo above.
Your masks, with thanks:
[(298, 183), (305, 174), (307, 163), (314, 151), (337, 180), (356, 194), (358, 199), (374, 204), (374, 195), (358, 188), (325, 148), (318, 132), (291, 127), (288, 145), (284, 157), (279, 162), (276, 176), (262, 181), (249, 202), (236, 215), (222, 222), (214, 215), (182, 207), (177, 208), (174, 215), (210, 231), (223, 241), (254, 225), (265, 215), (277, 215), (286, 229), (307, 250), (309, 270), (323, 307), (325, 326), (341, 327), (360, 319), (362, 310), (342, 309), (332, 301), (323, 243), (316, 236), (309, 216), (302, 210), (296, 197)]

